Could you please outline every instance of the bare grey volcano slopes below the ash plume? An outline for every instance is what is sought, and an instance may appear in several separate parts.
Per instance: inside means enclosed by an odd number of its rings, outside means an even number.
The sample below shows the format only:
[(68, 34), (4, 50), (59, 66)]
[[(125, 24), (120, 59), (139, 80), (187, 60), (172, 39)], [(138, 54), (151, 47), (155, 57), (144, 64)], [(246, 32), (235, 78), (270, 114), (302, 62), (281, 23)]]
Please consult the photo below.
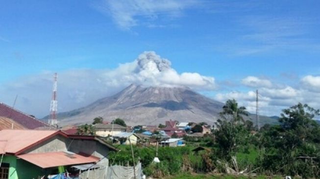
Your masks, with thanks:
[(70, 112), (58, 114), (60, 125), (91, 123), (122, 118), (129, 125), (157, 125), (172, 119), (213, 124), (222, 110), (221, 102), (188, 87), (167, 88), (130, 85), (119, 93)]

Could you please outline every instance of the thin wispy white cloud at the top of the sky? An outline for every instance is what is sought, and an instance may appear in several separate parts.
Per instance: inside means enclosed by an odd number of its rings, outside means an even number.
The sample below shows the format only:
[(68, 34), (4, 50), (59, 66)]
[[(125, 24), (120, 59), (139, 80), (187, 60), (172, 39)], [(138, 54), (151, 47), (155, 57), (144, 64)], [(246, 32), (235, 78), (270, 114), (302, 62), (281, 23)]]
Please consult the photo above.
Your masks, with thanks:
[[(195, 6), (195, 0), (104, 0), (98, 9), (109, 14), (123, 29), (141, 24), (138, 18), (147, 22), (165, 17), (180, 17), (183, 10)], [(152, 27), (163, 26), (153, 24)]]

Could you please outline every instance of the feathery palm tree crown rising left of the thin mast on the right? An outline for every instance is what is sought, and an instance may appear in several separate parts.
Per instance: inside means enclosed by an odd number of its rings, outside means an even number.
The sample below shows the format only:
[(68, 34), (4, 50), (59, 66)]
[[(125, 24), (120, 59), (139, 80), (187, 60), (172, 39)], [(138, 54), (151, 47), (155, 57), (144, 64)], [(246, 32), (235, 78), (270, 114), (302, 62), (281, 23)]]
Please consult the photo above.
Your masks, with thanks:
[(230, 119), (231, 122), (245, 122), (244, 115), (248, 115), (248, 112), (246, 111), (246, 107), (241, 106), (238, 107), (238, 103), (235, 99), (229, 99), (225, 102), (225, 105), (222, 107), (222, 112), (220, 112), (220, 116), (223, 119)]

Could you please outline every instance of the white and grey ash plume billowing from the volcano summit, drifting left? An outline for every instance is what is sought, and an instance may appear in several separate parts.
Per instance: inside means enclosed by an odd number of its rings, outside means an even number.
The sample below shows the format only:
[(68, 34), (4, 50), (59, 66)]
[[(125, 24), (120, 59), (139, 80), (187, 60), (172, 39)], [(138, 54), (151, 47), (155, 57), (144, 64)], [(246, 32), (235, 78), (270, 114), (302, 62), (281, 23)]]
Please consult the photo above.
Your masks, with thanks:
[[(52, 90), (52, 71), (24, 76), (2, 84), (0, 102), (11, 105), (16, 94), (16, 107), (42, 117), (49, 113)], [(198, 73), (179, 74), (171, 62), (153, 51), (144, 52), (130, 63), (115, 69), (72, 69), (58, 73), (58, 111), (73, 110), (119, 92), (131, 83), (143, 86), (188, 86), (194, 90), (214, 90), (215, 79)]]

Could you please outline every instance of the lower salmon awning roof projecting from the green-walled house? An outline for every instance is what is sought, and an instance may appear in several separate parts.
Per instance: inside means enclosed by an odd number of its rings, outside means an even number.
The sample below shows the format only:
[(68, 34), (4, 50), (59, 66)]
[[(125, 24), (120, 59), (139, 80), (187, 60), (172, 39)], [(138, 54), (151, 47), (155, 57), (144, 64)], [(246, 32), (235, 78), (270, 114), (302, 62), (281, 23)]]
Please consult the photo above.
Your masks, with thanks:
[(98, 162), (100, 159), (94, 156), (84, 156), (82, 154), (80, 155), (70, 152), (32, 153), (19, 155), (17, 157), (41, 168), (94, 163)]

